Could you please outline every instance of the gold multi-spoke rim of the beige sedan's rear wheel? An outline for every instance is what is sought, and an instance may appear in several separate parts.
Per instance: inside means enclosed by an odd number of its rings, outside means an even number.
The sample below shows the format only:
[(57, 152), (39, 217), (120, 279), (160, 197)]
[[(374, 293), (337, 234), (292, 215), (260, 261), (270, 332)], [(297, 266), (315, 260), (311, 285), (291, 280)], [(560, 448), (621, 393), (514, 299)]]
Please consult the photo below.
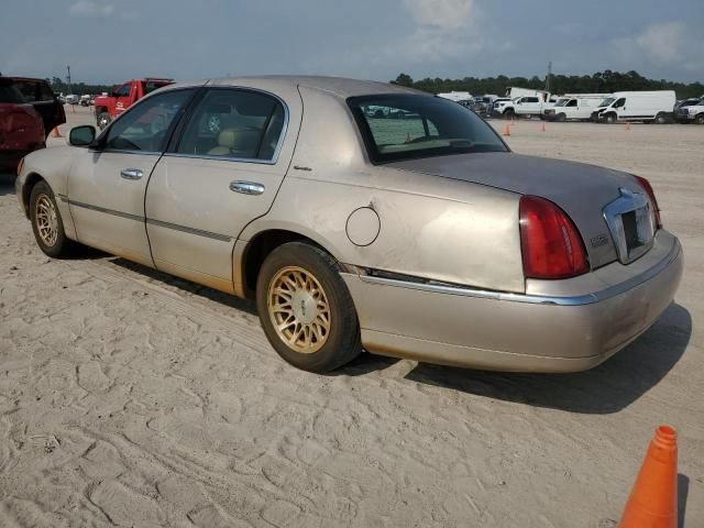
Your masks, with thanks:
[(267, 308), (277, 336), (302, 354), (322, 348), (330, 334), (330, 305), (318, 279), (298, 266), (280, 270), (268, 287)]

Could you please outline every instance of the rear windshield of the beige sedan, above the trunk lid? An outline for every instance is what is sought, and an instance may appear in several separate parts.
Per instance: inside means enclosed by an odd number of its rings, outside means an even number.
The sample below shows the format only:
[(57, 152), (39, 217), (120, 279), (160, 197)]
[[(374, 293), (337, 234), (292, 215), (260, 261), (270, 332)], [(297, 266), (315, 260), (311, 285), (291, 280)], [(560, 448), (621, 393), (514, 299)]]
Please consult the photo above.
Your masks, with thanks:
[(374, 163), (508, 148), (482, 118), (439, 97), (389, 94), (348, 105)]

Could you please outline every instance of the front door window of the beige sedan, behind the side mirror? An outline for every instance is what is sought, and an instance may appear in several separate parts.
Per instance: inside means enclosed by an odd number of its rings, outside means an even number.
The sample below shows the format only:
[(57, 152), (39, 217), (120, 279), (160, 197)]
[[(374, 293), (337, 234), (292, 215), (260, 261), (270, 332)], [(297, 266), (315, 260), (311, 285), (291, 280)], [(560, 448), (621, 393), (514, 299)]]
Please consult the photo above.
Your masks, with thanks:
[(167, 91), (135, 105), (108, 129), (106, 148), (162, 152), (169, 127), (193, 91)]

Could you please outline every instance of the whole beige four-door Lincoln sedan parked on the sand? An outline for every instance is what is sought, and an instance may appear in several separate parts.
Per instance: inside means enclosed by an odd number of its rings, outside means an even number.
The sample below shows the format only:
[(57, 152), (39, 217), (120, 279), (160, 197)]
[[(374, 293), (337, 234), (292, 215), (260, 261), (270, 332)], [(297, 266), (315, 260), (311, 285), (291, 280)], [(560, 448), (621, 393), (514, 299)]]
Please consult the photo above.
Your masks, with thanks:
[(309, 371), (363, 348), (590, 369), (682, 275), (646, 179), (514, 154), (473, 112), (396, 85), (175, 85), (69, 142), (29, 155), (15, 184), (44, 253), (80, 242), (255, 299), (272, 346)]

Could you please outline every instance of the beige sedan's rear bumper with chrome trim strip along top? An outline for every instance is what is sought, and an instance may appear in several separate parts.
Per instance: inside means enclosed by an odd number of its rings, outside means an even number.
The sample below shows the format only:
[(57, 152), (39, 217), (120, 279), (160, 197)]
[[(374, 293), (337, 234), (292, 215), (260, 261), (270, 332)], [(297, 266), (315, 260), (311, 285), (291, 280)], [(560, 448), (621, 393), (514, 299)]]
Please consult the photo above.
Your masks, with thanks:
[[(343, 278), (371, 352), (474, 369), (574, 372), (605, 361), (656, 321), (674, 297), (682, 261), (676, 238), (659, 231), (630, 276), (624, 272), (630, 265), (619, 263), (590, 274), (601, 274), (604, 285), (593, 293), (517, 295)], [(622, 280), (609, 284), (615, 277)]]

